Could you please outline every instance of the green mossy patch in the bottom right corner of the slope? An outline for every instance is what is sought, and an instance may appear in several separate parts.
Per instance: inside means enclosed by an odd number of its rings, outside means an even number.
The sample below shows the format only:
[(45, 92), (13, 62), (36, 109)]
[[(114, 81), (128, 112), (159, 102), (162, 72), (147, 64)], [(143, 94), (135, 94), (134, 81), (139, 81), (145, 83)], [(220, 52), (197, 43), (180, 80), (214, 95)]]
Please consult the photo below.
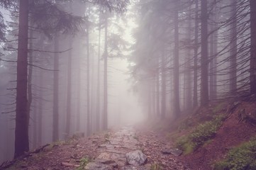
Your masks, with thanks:
[(256, 169), (256, 138), (230, 149), (226, 159), (213, 164), (213, 169)]

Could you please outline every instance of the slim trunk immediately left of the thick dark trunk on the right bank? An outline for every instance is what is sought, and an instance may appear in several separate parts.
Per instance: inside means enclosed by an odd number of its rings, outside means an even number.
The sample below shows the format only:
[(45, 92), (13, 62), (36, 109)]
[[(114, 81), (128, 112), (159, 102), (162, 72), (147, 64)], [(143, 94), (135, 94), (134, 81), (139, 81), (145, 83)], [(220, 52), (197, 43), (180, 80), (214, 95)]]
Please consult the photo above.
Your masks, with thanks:
[(195, 32), (194, 32), (194, 89), (193, 89), (193, 106), (198, 106), (198, 93), (197, 93), (197, 73), (198, 73), (198, 49), (199, 49), (199, 1), (196, 0), (196, 15), (195, 15)]

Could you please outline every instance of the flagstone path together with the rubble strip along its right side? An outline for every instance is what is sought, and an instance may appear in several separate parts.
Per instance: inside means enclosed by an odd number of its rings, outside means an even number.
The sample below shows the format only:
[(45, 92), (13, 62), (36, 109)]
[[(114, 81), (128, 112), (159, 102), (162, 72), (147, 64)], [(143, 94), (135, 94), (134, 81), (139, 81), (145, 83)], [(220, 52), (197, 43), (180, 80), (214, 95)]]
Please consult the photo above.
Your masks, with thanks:
[(160, 170), (189, 169), (170, 153), (172, 145), (155, 132), (136, 132), (131, 126), (112, 133), (99, 145), (99, 156), (85, 169)]

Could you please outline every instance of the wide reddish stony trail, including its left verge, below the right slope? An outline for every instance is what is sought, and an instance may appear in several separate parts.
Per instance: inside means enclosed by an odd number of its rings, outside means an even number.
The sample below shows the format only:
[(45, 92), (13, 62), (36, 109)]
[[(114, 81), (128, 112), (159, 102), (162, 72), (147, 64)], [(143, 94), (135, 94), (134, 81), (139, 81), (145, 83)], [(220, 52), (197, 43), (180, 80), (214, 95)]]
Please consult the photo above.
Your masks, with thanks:
[(53, 143), (40, 153), (17, 160), (8, 169), (188, 170), (169, 152), (172, 144), (162, 139), (155, 132), (126, 126), (89, 138)]

